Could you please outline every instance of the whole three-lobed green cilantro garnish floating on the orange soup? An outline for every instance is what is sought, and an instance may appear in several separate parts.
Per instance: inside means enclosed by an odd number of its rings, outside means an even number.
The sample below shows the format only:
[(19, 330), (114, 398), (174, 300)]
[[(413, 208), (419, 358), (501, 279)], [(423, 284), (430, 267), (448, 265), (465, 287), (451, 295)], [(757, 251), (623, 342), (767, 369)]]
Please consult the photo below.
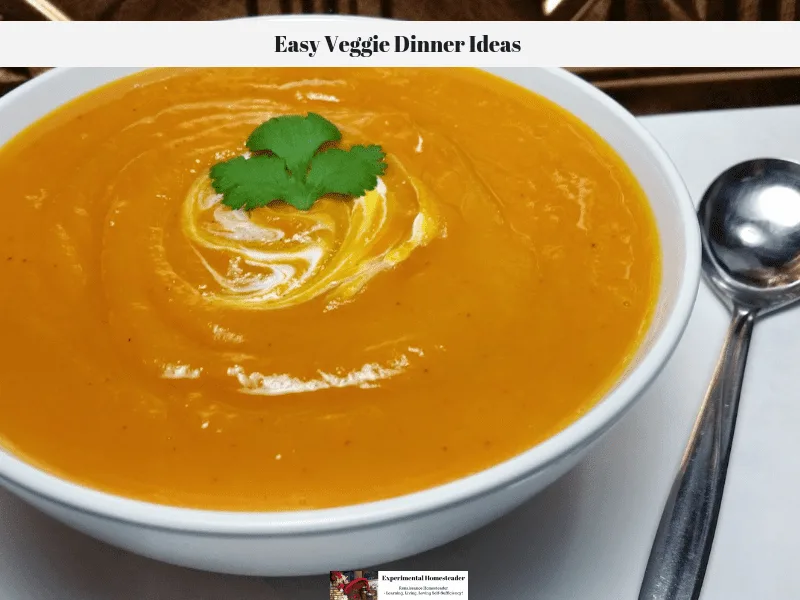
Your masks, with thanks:
[(326, 194), (362, 196), (377, 187), (386, 154), (380, 146), (329, 146), (341, 139), (336, 126), (315, 113), (274, 117), (247, 139), (253, 155), (214, 165), (211, 183), (225, 206), (244, 210), (275, 200), (308, 210)]

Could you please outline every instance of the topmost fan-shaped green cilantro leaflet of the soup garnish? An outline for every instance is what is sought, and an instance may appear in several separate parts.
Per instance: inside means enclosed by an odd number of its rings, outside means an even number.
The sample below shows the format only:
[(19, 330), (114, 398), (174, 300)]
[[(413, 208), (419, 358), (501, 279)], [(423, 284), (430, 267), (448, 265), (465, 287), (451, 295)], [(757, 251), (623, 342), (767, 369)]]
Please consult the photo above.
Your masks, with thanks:
[(259, 125), (247, 139), (253, 152), (268, 150), (286, 161), (294, 177), (305, 178), (308, 163), (322, 144), (338, 142), (336, 125), (316, 113), (274, 117)]

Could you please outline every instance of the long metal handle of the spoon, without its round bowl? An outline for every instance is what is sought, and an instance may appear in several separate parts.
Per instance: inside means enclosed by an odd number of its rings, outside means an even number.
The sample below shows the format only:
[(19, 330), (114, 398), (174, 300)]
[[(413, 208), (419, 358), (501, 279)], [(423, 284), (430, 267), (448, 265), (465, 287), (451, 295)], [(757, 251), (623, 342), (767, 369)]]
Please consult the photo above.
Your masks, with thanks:
[(697, 600), (714, 540), (755, 311), (737, 308), (680, 472), (672, 486), (639, 600)]

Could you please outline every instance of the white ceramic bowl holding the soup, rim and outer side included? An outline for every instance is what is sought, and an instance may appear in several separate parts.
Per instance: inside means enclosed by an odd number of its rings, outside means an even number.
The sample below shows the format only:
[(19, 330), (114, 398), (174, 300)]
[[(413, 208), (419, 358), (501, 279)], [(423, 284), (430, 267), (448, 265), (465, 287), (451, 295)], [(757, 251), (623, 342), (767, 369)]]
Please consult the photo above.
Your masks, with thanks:
[[(0, 144), (64, 102), (136, 69), (55, 69), (0, 99)], [(656, 316), (633, 364), (595, 408), (527, 452), (476, 475), (357, 506), (282, 513), (172, 508), (98, 492), (0, 450), (0, 483), (100, 540), (166, 562), (226, 573), (307, 575), (359, 568), (444, 544), (502, 516), (571, 469), (664, 366), (699, 285), (700, 236), (687, 191), (636, 119), (559, 69), (493, 69), (556, 102), (622, 156), (655, 213), (663, 254)], [(535, 532), (531, 532), (532, 535)]]

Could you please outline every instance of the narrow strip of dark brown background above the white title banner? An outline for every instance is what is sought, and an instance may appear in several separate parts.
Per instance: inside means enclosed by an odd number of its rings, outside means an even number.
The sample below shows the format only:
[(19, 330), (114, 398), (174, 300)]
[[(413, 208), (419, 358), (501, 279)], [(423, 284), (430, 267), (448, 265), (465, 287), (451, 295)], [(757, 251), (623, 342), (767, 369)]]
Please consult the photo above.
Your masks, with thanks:
[[(5, 19), (35, 19), (47, 0), (0, 0)], [(411, 20), (794, 20), (797, 0), (49, 0), (75, 20), (206, 20), (344, 13)]]

